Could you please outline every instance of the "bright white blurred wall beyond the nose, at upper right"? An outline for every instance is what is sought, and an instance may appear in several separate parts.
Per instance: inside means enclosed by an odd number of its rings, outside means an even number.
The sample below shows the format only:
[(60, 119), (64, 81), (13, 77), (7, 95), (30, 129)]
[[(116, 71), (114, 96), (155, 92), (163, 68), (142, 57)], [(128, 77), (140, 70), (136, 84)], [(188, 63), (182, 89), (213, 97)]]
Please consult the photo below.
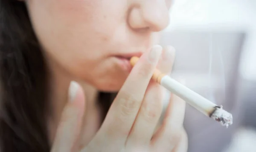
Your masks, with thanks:
[(256, 80), (256, 0), (174, 0), (166, 31), (183, 29), (247, 33), (240, 73)]

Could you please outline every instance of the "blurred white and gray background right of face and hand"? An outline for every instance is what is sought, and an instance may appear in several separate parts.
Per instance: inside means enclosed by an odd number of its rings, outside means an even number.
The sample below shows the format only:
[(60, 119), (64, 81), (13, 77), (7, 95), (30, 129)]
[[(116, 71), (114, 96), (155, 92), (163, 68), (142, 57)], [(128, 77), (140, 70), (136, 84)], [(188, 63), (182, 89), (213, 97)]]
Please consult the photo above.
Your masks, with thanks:
[(174, 0), (170, 14), (171, 76), (233, 114), (227, 129), (188, 105), (188, 152), (256, 152), (256, 0)]

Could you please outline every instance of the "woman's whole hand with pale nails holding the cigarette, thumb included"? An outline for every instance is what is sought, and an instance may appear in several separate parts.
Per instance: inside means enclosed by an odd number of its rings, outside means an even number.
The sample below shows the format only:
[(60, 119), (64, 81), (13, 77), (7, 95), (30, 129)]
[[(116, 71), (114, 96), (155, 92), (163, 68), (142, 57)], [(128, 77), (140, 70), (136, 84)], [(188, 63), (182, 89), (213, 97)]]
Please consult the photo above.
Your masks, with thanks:
[[(161, 55), (162, 54), (162, 55)], [(172, 95), (162, 125), (163, 87), (153, 82), (154, 69), (169, 73), (174, 49), (155, 46), (144, 53), (131, 71), (90, 143), (76, 152), (186, 152), (183, 129), (185, 102)], [(84, 95), (77, 83), (64, 109), (51, 152), (74, 152), (84, 113)]]

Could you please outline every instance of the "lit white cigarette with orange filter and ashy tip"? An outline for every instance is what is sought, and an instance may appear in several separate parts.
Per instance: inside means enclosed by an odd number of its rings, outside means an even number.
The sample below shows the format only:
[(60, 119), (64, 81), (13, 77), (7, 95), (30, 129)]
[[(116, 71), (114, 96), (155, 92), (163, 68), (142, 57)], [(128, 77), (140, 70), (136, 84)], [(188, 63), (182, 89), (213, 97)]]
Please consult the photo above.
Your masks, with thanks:
[[(139, 57), (132, 57), (130, 60), (131, 65), (134, 66), (138, 60)], [(220, 122), (222, 126), (228, 127), (233, 123), (232, 114), (225, 111), (222, 106), (217, 106), (215, 103), (212, 103), (198, 93), (192, 91), (186, 86), (183, 86), (181, 83), (172, 79), (169, 75), (160, 72), (158, 69), (154, 70), (152, 79), (170, 92), (185, 100), (186, 103), (193, 106), (204, 115)]]

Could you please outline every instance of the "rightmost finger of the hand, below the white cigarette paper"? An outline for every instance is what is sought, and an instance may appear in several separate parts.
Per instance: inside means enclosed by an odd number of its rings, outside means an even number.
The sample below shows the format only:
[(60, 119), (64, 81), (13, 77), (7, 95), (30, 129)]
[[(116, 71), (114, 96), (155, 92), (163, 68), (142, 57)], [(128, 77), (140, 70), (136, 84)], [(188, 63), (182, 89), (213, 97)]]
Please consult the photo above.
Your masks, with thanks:
[[(184, 83), (184, 82), (181, 82)], [(172, 150), (177, 139), (180, 138), (180, 132), (183, 128), (186, 103), (177, 95), (172, 94), (166, 110), (163, 124), (152, 138), (152, 144), (160, 149)]]

